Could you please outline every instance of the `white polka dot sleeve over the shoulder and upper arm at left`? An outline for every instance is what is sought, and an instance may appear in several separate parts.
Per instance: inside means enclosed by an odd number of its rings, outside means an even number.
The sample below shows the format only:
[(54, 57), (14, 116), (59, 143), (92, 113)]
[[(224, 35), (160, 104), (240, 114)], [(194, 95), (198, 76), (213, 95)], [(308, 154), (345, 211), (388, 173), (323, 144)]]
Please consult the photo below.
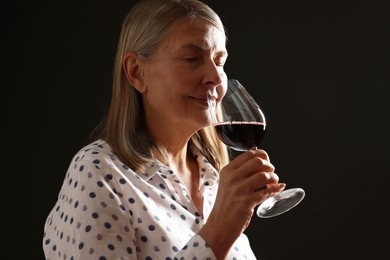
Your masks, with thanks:
[(46, 259), (137, 259), (132, 216), (96, 161), (73, 162), (45, 224)]

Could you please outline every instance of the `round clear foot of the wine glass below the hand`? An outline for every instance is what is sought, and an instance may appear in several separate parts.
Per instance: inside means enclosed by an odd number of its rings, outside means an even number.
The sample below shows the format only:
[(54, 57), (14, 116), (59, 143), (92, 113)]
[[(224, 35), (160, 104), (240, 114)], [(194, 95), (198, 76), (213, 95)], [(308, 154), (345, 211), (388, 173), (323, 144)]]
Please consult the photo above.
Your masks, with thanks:
[(299, 204), (305, 197), (305, 191), (301, 188), (284, 190), (266, 199), (257, 208), (257, 216), (271, 218), (289, 211)]

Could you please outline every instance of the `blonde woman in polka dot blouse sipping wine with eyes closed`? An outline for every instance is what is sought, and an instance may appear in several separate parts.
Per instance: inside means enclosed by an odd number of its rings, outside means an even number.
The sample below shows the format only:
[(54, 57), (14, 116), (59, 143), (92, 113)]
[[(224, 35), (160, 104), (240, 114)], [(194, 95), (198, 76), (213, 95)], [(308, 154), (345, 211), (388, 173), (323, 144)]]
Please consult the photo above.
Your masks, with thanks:
[(106, 118), (45, 223), (46, 259), (255, 259), (243, 232), (285, 184), (263, 150), (229, 162), (210, 127), (207, 97), (218, 105), (226, 93), (227, 56), (223, 24), (204, 3), (132, 8)]

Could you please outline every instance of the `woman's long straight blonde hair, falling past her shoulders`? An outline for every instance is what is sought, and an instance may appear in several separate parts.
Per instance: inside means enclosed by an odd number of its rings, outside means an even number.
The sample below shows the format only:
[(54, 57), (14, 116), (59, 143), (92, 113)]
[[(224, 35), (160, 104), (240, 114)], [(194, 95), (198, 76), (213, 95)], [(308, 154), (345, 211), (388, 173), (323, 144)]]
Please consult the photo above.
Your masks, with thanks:
[[(135, 171), (142, 171), (145, 164), (153, 160), (152, 149), (155, 144), (142, 120), (141, 96), (130, 85), (122, 69), (123, 56), (133, 51), (148, 59), (174, 22), (199, 18), (226, 36), (219, 16), (198, 0), (142, 0), (130, 10), (122, 24), (114, 64), (111, 102), (105, 119), (92, 137), (106, 140), (115, 154)], [(219, 141), (213, 127), (199, 130), (190, 142), (217, 170), (228, 163), (227, 148)]]

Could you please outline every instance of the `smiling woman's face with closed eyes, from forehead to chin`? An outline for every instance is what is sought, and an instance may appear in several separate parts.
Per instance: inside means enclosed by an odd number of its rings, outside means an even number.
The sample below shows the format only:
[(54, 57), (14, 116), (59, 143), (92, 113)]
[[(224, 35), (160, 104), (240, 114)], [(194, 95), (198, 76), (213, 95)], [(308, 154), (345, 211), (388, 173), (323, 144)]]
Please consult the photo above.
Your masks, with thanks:
[(202, 20), (177, 22), (142, 64), (148, 127), (196, 131), (210, 125), (207, 95), (226, 93), (227, 59), (223, 32)]

